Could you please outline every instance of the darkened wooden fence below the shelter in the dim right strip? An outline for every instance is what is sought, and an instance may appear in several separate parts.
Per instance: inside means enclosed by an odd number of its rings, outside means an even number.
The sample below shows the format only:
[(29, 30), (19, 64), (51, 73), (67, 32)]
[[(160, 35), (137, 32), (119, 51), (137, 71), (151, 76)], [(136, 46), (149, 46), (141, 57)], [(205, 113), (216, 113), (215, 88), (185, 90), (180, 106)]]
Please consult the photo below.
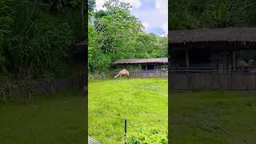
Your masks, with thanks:
[(255, 73), (170, 73), (171, 90), (256, 90)]

